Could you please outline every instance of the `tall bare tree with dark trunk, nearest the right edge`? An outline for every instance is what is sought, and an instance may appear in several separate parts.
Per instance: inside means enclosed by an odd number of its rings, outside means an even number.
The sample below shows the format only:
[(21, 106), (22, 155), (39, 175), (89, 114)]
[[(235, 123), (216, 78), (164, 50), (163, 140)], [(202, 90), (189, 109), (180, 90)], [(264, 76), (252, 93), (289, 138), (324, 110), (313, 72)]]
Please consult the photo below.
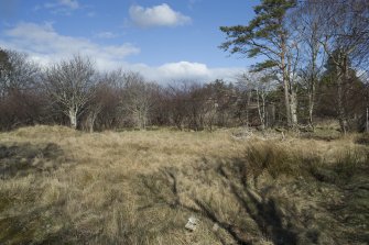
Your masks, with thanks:
[(330, 62), (336, 66), (337, 111), (343, 133), (348, 131), (348, 118), (345, 110), (345, 85), (349, 83), (350, 68), (368, 64), (369, 46), (369, 2), (366, 0), (316, 1), (321, 16), (325, 18), (325, 40), (322, 45)]

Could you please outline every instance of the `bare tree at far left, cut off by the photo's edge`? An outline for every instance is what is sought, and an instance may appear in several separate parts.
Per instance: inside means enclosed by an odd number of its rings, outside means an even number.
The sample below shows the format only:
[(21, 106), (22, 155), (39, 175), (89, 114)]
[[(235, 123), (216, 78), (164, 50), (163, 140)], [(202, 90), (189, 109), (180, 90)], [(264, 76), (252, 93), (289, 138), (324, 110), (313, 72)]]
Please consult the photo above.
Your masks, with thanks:
[(0, 49), (0, 127), (41, 121), (40, 68), (23, 53)]

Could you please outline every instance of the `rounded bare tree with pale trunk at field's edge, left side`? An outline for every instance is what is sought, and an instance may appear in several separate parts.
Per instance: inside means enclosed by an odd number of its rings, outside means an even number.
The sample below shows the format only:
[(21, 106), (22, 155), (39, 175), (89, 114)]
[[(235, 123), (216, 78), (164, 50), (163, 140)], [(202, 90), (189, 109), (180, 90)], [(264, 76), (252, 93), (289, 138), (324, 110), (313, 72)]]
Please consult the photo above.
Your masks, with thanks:
[(62, 60), (45, 73), (45, 88), (54, 101), (61, 104), (73, 129), (77, 127), (78, 116), (94, 94), (95, 74), (93, 62), (80, 55)]

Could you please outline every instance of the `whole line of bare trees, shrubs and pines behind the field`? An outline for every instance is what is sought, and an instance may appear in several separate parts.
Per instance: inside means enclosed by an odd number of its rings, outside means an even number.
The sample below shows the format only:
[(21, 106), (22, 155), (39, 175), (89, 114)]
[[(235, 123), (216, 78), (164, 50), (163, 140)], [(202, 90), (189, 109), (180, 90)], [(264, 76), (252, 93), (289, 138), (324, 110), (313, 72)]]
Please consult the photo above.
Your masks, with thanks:
[(221, 26), (220, 48), (261, 60), (235, 81), (148, 81), (99, 71), (75, 55), (48, 66), (0, 49), (0, 129), (63, 124), (86, 131), (274, 126), (314, 130), (336, 119), (368, 130), (369, 2), (262, 0), (247, 25)]

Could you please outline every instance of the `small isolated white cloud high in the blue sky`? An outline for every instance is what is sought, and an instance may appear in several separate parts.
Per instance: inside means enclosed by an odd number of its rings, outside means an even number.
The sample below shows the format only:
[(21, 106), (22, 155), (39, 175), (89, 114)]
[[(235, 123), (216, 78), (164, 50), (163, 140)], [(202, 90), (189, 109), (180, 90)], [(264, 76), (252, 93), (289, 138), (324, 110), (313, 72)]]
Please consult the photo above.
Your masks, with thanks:
[(171, 9), (166, 3), (143, 8), (131, 5), (129, 9), (131, 21), (140, 27), (175, 26), (191, 22), (191, 18)]

